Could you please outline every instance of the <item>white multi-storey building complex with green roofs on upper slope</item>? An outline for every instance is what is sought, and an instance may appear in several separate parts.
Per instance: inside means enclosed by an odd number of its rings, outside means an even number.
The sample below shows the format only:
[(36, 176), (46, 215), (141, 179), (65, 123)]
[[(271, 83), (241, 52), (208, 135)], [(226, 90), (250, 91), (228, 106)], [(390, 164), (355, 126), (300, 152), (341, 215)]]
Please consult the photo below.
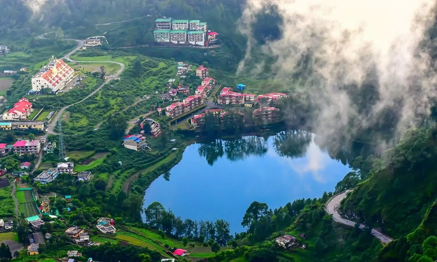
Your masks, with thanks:
[(218, 38), (216, 32), (208, 31), (206, 22), (200, 20), (178, 20), (172, 18), (157, 18), (153, 37), (156, 43), (175, 45), (208, 46)]

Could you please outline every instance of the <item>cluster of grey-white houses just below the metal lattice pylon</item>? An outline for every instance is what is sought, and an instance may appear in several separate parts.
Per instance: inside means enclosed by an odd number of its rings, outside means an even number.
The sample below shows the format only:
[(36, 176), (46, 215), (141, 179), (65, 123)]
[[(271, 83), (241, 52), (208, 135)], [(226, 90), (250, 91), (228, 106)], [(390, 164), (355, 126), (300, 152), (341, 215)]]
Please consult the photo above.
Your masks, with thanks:
[[(38, 176), (34, 178), (35, 181), (41, 183), (41, 184), (47, 184), (55, 180), (59, 174), (67, 173), (67, 174), (73, 174), (74, 173), (74, 163), (73, 162), (61, 162), (58, 163), (58, 165), (54, 168), (49, 168)], [(85, 183), (88, 183), (91, 179), (91, 172), (79, 172), (77, 174), (77, 180), (83, 181)]]

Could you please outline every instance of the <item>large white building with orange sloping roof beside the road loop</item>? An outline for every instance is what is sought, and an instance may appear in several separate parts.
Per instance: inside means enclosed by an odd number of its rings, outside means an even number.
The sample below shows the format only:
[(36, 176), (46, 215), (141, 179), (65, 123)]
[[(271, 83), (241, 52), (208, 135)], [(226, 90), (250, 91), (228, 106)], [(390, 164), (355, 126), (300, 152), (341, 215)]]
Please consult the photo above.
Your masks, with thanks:
[(32, 90), (41, 92), (50, 88), (52, 93), (58, 93), (74, 77), (74, 70), (62, 59), (52, 57), (50, 62), (32, 77)]

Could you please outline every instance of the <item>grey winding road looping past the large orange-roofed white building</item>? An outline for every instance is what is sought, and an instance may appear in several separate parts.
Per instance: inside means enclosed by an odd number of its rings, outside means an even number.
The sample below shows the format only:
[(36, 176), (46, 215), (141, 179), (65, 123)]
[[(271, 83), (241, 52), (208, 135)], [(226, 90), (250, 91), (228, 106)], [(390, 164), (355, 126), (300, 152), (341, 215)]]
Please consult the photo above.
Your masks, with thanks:
[[(49, 33), (50, 33), (50, 32), (47, 32), (47, 33), (44, 33), (44, 34), (40, 34), (40, 35), (37, 36), (37, 38), (39, 38), (39, 39), (49, 39), (49, 38), (46, 38), (46, 37), (45, 37), (45, 34), (49, 34)], [(80, 100), (80, 101), (78, 101), (78, 102), (76, 102), (76, 103), (69, 104), (68, 106), (65, 106), (65, 107), (62, 107), (61, 109), (59, 109), (58, 113), (55, 114), (55, 116), (53, 116), (52, 121), (50, 122), (50, 124), (47, 125), (47, 129), (48, 129), (48, 130), (47, 130), (46, 134), (44, 135), (44, 137), (45, 137), (46, 139), (47, 139), (47, 136), (48, 136), (49, 134), (58, 134), (58, 133), (56, 133), (56, 132), (54, 131), (54, 130), (55, 130), (55, 127), (56, 127), (56, 124), (58, 123), (59, 118), (62, 116), (62, 114), (64, 113), (64, 111), (65, 111), (67, 108), (69, 108), (69, 107), (71, 107), (71, 106), (73, 106), (73, 105), (75, 105), (75, 104), (82, 103), (83, 101), (87, 100), (88, 98), (90, 98), (91, 96), (93, 96), (95, 93), (99, 92), (99, 90), (101, 90), (102, 87), (103, 87), (104, 85), (106, 85), (106, 84), (108, 84), (109, 82), (111, 82), (111, 80), (112, 80), (113, 78), (117, 78), (118, 76), (120, 76), (120, 74), (123, 72), (123, 70), (125, 70), (125, 64), (123, 64), (123, 63), (121, 63), (121, 62), (116, 62), (116, 61), (76, 61), (76, 60), (70, 59), (70, 55), (72, 55), (72, 54), (75, 53), (77, 50), (79, 50), (80, 48), (82, 48), (82, 47), (83, 47), (83, 43), (84, 43), (85, 41), (84, 41), (84, 40), (80, 40), (80, 39), (65, 39), (65, 40), (76, 41), (76, 42), (77, 42), (77, 46), (76, 46), (76, 48), (74, 48), (73, 50), (71, 50), (68, 54), (64, 55), (61, 59), (66, 59), (66, 60), (68, 60), (68, 61), (70, 61), (70, 62), (74, 62), (74, 63), (113, 63), (113, 64), (117, 64), (117, 65), (119, 65), (119, 66), (120, 66), (120, 69), (119, 69), (118, 72), (116, 72), (115, 74), (113, 74), (113, 75), (109, 75), (109, 76), (106, 76), (106, 79), (107, 79), (107, 80), (106, 80), (103, 84), (101, 84), (101, 86), (97, 87), (96, 90), (94, 90), (94, 91), (91, 92), (89, 95), (87, 95), (86, 97), (84, 97), (82, 100)], [(41, 164), (41, 160), (42, 160), (42, 152), (40, 152), (40, 154), (39, 154), (39, 158), (38, 158), (38, 161), (37, 161), (37, 163), (35, 164), (35, 167), (34, 167), (34, 169), (32, 170), (32, 172), (35, 171), (36, 169), (38, 169), (39, 164)]]

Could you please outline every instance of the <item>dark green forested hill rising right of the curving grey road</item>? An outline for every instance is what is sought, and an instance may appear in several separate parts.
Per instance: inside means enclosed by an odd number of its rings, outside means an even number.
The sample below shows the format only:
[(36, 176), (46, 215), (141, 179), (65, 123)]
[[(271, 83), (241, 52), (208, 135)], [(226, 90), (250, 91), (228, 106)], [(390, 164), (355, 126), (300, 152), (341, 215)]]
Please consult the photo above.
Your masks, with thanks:
[[(347, 216), (399, 238), (382, 253), (383, 261), (395, 261), (384, 260), (387, 257), (404, 261), (407, 250), (408, 256), (421, 255), (425, 239), (436, 235), (436, 158), (437, 124), (410, 128), (398, 145), (374, 159), (365, 175), (368, 179), (359, 183), (342, 204)], [(437, 259), (435, 255), (430, 258)]]

